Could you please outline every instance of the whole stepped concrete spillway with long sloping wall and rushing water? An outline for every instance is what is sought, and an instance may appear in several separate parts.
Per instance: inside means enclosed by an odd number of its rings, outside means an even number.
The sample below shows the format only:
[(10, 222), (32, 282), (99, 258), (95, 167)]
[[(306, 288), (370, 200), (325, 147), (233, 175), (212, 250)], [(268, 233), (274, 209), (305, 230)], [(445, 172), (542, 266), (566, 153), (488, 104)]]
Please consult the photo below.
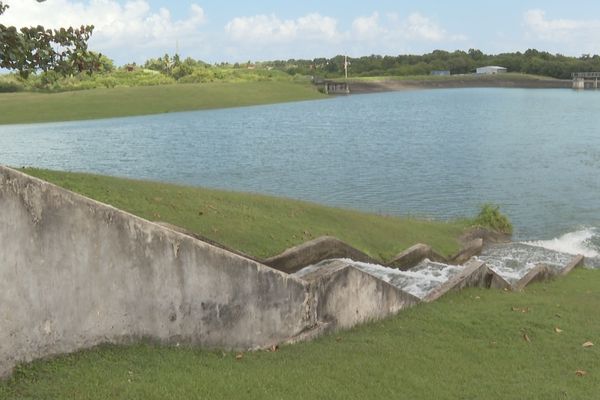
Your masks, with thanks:
[[(403, 255), (411, 263), (430, 254), (413, 250)], [(421, 260), (400, 271), (321, 238), (261, 261), (0, 166), (0, 377), (21, 362), (140, 338), (229, 349), (306, 340), (450, 290), (520, 289), (582, 261), (519, 258), (514, 265), (556, 264), (511, 285), (505, 266), (486, 262), (521, 253), (495, 251), (485, 262)]]

